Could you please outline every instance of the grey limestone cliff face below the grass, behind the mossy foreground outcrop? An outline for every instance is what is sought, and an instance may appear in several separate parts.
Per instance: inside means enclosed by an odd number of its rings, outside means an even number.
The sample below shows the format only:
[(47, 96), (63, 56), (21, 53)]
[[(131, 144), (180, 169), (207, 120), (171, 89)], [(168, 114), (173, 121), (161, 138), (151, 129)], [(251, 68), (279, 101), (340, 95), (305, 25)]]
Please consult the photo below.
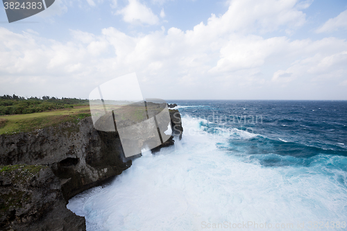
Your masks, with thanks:
[(119, 175), (131, 165), (121, 159), (117, 132), (94, 129), (91, 117), (56, 128), (0, 136), (0, 164), (50, 166), (65, 200)]

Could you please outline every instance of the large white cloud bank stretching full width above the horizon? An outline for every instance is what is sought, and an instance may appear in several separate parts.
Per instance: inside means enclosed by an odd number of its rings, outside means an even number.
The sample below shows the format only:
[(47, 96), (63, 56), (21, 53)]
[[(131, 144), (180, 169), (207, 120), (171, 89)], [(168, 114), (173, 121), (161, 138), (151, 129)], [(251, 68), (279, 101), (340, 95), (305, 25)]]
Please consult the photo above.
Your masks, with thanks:
[(345, 40), (264, 38), (262, 31), (280, 26), (293, 30), (305, 15), (296, 1), (244, 1), (232, 1), (224, 15), (191, 31), (130, 36), (110, 27), (100, 34), (71, 31), (68, 42), (59, 42), (0, 28), (0, 91), (83, 98), (135, 71), (146, 98), (319, 99), (317, 89), (325, 87), (347, 99)]

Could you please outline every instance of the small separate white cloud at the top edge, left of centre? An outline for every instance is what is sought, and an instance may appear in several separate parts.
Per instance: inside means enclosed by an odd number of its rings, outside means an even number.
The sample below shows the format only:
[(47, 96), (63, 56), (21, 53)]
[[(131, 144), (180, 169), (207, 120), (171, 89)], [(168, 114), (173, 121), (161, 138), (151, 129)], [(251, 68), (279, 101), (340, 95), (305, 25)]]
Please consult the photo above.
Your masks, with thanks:
[(128, 6), (117, 10), (117, 15), (122, 15), (124, 22), (130, 24), (158, 24), (158, 16), (153, 14), (151, 8), (146, 7), (137, 0), (128, 1)]

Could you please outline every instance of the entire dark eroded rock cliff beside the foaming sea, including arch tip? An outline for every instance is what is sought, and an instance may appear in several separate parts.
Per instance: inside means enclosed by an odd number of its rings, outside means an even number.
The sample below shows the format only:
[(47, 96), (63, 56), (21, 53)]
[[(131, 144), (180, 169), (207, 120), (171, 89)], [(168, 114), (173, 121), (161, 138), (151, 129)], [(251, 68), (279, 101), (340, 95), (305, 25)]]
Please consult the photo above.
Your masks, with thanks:
[[(169, 111), (173, 135), (180, 139), (180, 113)], [(174, 144), (174, 136), (153, 153)], [(85, 230), (84, 218), (65, 205), (69, 198), (128, 169), (132, 161), (122, 152), (117, 131), (95, 130), (91, 117), (33, 132), (0, 135), (0, 165), (6, 170), (1, 170), (0, 178), (0, 229)], [(15, 164), (19, 165), (13, 169)], [(30, 169), (40, 171), (32, 173)]]

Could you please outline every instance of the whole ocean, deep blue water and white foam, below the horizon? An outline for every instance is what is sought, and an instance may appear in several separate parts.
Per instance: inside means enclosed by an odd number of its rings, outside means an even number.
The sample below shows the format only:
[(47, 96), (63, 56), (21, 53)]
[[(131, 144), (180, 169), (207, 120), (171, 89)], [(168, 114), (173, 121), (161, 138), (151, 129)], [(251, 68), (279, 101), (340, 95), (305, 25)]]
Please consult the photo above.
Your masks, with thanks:
[(87, 230), (346, 230), (347, 101), (169, 101), (183, 139), (69, 200)]

